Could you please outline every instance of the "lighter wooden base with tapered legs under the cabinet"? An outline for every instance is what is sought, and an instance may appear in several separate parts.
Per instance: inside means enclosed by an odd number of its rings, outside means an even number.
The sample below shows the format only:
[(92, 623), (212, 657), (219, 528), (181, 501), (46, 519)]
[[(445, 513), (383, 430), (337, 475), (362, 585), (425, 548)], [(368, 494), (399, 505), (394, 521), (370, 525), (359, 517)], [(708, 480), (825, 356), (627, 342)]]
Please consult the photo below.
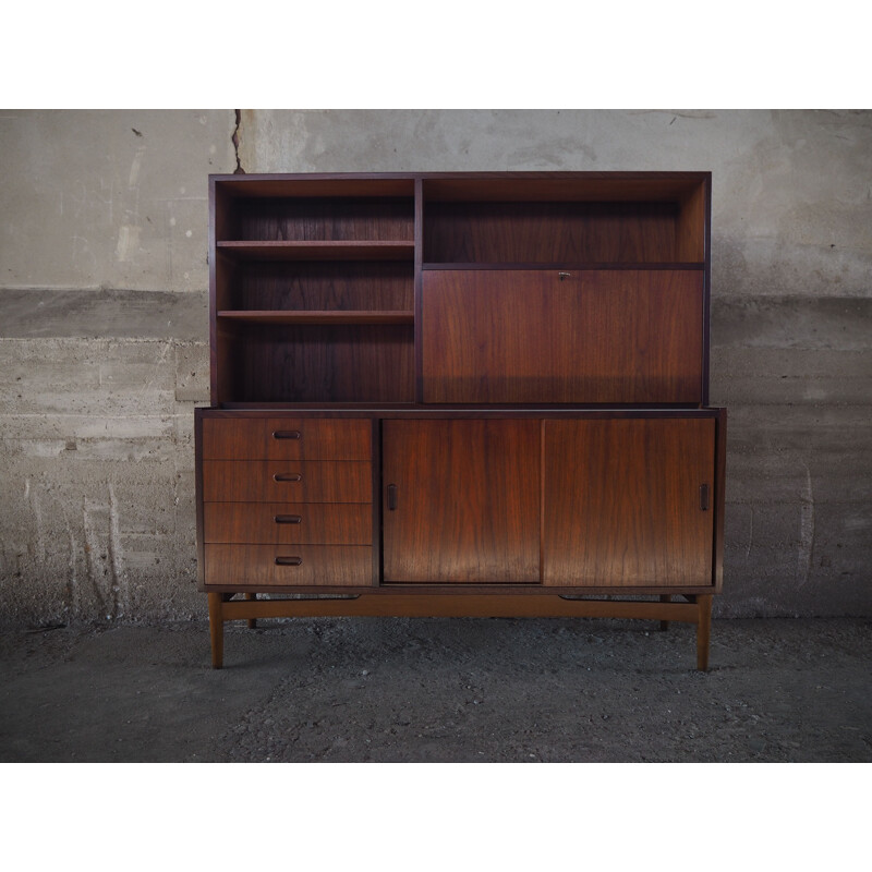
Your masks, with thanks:
[(398, 618), (640, 618), (697, 625), (697, 668), (708, 669), (708, 643), (712, 630), (712, 595), (682, 595), (673, 602), (664, 594), (659, 602), (637, 600), (585, 600), (555, 594), (460, 594), (426, 596), (421, 594), (361, 594), (352, 597), (307, 600), (257, 600), (245, 592), (244, 600), (232, 593), (209, 592), (209, 632), (211, 665), (223, 665), (223, 625), (246, 620), (254, 627), (257, 618), (315, 617), (398, 617)]

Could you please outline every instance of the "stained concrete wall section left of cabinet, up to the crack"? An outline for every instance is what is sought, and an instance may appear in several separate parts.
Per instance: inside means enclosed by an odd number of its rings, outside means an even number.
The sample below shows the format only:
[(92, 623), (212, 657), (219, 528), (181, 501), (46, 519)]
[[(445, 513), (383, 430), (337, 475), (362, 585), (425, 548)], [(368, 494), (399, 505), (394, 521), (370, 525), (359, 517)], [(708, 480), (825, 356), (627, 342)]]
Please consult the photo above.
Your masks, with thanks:
[(232, 111), (4, 111), (0, 620), (198, 615), (209, 172)]

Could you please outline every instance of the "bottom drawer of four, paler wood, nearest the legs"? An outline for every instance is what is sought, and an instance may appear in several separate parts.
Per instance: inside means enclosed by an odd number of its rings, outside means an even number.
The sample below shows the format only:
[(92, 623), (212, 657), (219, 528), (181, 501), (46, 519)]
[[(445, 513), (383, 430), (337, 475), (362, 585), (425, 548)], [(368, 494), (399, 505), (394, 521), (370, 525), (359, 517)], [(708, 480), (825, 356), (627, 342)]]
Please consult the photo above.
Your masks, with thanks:
[(237, 588), (366, 586), (373, 549), (366, 545), (206, 545), (206, 584)]

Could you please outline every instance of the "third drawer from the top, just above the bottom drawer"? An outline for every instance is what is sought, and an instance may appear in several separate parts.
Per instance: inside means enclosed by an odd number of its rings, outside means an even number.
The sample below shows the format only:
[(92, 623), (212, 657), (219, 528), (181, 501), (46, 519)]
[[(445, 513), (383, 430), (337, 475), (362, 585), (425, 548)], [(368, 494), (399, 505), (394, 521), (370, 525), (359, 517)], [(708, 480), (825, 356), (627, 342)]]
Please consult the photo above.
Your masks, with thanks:
[(363, 502), (206, 502), (203, 540), (275, 545), (372, 545)]

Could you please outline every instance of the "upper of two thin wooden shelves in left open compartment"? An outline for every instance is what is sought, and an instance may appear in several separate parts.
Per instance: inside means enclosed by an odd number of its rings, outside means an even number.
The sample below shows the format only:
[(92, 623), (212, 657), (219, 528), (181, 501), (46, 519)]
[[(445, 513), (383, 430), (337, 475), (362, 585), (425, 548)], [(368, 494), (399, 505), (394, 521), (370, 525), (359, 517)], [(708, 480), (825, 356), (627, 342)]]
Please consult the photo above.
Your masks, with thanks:
[(226, 240), (216, 246), (247, 261), (412, 261), (415, 250), (411, 240)]

